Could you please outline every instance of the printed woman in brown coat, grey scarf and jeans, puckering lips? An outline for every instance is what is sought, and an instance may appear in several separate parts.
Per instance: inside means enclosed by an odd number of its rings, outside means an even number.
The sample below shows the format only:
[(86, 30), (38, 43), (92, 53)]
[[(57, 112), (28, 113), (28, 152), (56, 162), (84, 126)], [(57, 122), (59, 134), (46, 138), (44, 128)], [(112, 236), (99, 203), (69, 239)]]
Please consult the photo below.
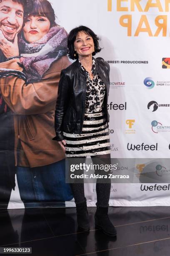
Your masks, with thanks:
[(67, 32), (55, 23), (47, 0), (34, 0), (19, 40), (17, 35), (13, 44), (0, 38), (7, 58), (0, 64), (0, 90), (14, 112), (20, 197), (25, 207), (65, 205), (72, 199), (65, 184), (65, 154), (52, 138), (60, 72), (70, 64)]

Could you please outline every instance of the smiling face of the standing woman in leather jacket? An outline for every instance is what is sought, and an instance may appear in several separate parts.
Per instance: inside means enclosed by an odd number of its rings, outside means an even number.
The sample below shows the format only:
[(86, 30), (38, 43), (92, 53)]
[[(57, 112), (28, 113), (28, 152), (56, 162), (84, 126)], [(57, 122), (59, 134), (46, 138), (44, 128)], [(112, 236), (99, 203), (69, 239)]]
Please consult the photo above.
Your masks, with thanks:
[(88, 36), (83, 31), (79, 32), (74, 42), (75, 51), (79, 56), (91, 55), (95, 49), (94, 41), (91, 36)]

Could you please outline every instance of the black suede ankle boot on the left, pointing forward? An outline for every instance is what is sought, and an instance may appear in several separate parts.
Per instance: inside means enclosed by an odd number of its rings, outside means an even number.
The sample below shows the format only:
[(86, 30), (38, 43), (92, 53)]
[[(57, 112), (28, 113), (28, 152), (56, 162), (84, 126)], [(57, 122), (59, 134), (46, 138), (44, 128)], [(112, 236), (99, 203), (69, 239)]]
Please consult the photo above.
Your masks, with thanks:
[(90, 226), (86, 200), (81, 203), (76, 203), (76, 211), (78, 228), (82, 231), (89, 231)]

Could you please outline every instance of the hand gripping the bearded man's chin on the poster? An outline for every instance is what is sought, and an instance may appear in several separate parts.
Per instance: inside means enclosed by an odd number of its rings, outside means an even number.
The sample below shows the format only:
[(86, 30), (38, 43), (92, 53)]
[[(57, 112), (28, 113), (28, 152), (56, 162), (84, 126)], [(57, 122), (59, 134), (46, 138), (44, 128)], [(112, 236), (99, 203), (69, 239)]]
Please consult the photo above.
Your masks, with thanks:
[(8, 41), (0, 30), (0, 50), (6, 58), (19, 56), (18, 33), (16, 33), (13, 43)]

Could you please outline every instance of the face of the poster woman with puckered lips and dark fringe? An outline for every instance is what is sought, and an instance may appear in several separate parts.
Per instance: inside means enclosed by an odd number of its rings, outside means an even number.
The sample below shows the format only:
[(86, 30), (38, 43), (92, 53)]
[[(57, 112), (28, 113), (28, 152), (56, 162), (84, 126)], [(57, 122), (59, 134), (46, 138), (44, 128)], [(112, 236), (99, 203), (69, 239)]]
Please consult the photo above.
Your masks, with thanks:
[(50, 29), (50, 20), (44, 16), (30, 16), (25, 21), (23, 33), (29, 43), (36, 42), (45, 36)]

